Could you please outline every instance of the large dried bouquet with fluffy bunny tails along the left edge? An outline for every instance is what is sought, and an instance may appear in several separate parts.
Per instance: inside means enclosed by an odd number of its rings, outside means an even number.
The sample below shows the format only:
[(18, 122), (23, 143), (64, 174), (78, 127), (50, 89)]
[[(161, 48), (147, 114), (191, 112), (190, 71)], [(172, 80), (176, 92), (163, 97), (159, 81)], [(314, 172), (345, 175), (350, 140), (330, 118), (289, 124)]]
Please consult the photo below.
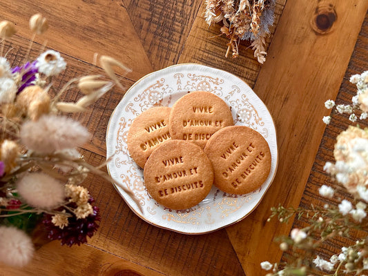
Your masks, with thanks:
[[(31, 17), (33, 38), (26, 59), (35, 35), (47, 28), (41, 14)], [(76, 148), (90, 134), (62, 112), (84, 112), (114, 84), (122, 87), (113, 66), (128, 68), (102, 56), (108, 79), (78, 77), (55, 90), (52, 79), (66, 69), (64, 58), (46, 50), (35, 61), (11, 67), (3, 49), (15, 32), (9, 21), (0, 22), (0, 262), (23, 266), (35, 250), (28, 235), (35, 226), (43, 225), (50, 240), (68, 246), (86, 242), (97, 230), (99, 208), (80, 184), (89, 172), (112, 179), (100, 170), (105, 164), (94, 167), (84, 161)], [(83, 97), (75, 103), (61, 101), (72, 88), (79, 88)]]

